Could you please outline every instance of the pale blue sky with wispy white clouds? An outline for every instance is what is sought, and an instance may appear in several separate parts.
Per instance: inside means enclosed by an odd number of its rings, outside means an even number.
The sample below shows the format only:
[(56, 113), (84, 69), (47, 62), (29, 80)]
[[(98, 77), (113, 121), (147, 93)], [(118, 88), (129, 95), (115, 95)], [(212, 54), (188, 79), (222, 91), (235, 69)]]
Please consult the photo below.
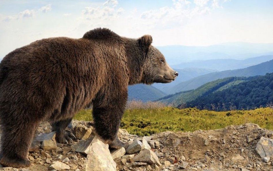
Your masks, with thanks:
[(47, 37), (106, 27), (154, 46), (273, 43), (272, 0), (1, 0), (0, 58)]

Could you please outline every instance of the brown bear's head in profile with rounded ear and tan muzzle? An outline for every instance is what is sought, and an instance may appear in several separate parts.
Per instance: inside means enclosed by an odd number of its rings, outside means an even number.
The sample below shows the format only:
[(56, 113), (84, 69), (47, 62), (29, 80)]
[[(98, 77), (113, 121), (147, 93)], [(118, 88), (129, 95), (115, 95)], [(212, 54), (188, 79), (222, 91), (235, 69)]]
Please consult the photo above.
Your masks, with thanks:
[(172, 82), (178, 73), (168, 65), (164, 55), (151, 45), (152, 41), (150, 35), (139, 38), (139, 45), (145, 53), (142, 82), (145, 84)]

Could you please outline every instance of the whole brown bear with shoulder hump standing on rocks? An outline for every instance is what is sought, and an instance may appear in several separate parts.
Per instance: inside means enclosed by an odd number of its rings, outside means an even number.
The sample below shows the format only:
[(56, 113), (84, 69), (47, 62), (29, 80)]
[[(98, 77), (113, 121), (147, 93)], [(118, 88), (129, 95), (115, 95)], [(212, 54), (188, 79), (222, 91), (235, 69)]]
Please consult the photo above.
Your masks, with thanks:
[(90, 102), (96, 132), (111, 148), (123, 147), (117, 131), (128, 85), (168, 83), (178, 75), (151, 43), (150, 35), (132, 39), (98, 28), (80, 39), (42, 39), (6, 55), (0, 63), (0, 163), (30, 166), (40, 121), (52, 123), (58, 142), (71, 141), (65, 128)]

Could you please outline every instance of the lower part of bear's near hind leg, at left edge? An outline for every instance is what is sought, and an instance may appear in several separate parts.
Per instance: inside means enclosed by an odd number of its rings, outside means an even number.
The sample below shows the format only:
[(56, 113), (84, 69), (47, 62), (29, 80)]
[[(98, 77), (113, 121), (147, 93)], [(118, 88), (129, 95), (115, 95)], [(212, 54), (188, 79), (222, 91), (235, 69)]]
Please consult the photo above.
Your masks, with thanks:
[[(2, 118), (3, 119), (3, 118)], [(1, 136), (0, 163), (11, 167), (29, 167), (29, 147), (35, 134), (36, 123), (6, 119), (1, 122), (3, 134)]]

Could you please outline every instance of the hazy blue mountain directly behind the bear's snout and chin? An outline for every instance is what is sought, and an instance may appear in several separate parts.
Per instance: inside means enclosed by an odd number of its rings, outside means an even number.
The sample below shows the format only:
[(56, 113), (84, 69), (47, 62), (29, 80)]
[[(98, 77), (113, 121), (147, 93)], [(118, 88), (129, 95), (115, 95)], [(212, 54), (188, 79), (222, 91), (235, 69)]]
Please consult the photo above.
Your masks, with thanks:
[(153, 87), (156, 87), (157, 89), (163, 92), (167, 92), (168, 89), (170, 89), (170, 87), (173, 87), (179, 84), (180, 82), (187, 81), (189, 79), (192, 79), (200, 75), (216, 72), (216, 70), (202, 69), (202, 68), (185, 68), (185, 69), (174, 69), (174, 70), (178, 72), (178, 77), (174, 81), (167, 84), (154, 83)]

